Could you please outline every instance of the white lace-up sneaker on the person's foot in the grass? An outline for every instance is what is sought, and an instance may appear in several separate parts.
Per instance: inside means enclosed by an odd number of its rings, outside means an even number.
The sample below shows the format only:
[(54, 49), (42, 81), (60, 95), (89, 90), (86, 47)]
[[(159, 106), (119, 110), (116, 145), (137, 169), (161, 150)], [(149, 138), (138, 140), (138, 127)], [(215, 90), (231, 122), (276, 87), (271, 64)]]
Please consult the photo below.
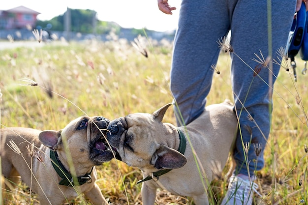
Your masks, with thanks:
[(253, 192), (261, 196), (256, 190), (258, 187), (254, 180), (232, 175), (221, 205), (252, 205)]

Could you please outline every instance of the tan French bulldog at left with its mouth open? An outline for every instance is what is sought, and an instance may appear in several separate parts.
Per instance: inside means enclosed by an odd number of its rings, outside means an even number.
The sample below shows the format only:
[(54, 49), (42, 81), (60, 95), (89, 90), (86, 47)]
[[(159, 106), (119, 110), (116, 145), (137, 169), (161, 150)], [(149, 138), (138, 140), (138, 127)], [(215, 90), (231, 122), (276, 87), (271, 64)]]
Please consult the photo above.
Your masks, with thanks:
[[(21, 176), (38, 194), (41, 205), (67, 203), (78, 196), (77, 192), (84, 193), (95, 205), (106, 205), (95, 183), (94, 166), (114, 156), (105, 146), (103, 136), (109, 122), (104, 117), (85, 116), (74, 119), (59, 131), (23, 127), (0, 129), (1, 142), (5, 142), (0, 150), (2, 175), (13, 183)], [(13, 148), (14, 144), (17, 148)], [(69, 166), (69, 158), (73, 166)], [(72, 176), (74, 173), (76, 177)]]

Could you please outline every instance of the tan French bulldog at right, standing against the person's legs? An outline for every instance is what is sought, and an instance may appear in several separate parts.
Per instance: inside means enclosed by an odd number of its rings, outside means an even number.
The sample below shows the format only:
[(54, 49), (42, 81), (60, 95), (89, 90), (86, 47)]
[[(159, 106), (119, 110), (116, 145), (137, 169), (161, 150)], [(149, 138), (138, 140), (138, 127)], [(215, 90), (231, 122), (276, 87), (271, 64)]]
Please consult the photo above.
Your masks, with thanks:
[(220, 165), (221, 171), (225, 166), (236, 136), (238, 121), (233, 106), (228, 100), (209, 105), (186, 127), (176, 127), (162, 122), (170, 105), (152, 115), (136, 113), (111, 121), (107, 140), (116, 148), (118, 159), (142, 170), (143, 205), (154, 205), (157, 188), (192, 197), (196, 205), (208, 205), (191, 146), (205, 171), (202, 177), (207, 187), (214, 167)]

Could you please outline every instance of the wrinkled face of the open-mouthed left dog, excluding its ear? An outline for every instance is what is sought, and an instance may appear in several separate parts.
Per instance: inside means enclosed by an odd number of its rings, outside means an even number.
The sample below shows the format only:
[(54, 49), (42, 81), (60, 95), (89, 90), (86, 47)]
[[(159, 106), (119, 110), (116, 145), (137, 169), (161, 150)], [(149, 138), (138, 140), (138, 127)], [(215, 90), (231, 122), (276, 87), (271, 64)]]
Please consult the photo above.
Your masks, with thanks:
[(75, 161), (84, 163), (87, 157), (94, 165), (100, 165), (114, 157), (105, 138), (109, 122), (109, 119), (104, 117), (84, 116), (65, 126), (61, 137), (67, 139), (69, 149), (76, 156)]

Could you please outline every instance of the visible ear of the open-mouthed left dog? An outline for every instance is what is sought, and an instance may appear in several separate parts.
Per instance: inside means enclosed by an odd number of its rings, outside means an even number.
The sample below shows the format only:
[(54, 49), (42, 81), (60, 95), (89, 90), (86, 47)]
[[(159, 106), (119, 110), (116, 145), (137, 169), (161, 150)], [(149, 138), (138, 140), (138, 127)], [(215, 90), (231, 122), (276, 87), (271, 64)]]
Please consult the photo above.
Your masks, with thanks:
[(57, 150), (61, 142), (61, 130), (44, 130), (39, 133), (38, 139), (44, 146)]

